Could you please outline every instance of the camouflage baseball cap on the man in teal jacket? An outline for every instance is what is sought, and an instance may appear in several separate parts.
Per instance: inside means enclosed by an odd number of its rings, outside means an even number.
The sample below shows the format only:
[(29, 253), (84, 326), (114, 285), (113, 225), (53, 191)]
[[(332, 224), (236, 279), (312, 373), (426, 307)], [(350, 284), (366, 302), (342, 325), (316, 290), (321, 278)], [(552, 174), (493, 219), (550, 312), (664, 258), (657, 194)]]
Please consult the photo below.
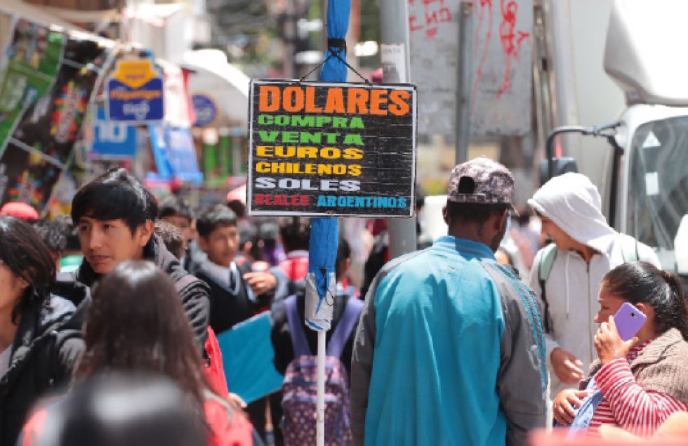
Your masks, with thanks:
[(502, 164), (477, 157), (451, 171), (447, 199), (456, 203), (511, 204), (513, 209), (514, 177)]

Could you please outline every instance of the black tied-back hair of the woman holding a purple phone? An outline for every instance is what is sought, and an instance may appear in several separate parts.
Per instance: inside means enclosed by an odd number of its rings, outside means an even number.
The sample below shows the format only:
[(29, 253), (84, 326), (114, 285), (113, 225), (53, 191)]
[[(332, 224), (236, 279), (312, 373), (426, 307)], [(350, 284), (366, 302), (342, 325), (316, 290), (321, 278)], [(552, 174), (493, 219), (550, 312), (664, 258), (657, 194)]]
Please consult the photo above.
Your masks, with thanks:
[(688, 306), (677, 275), (647, 262), (623, 263), (604, 276), (602, 286), (633, 305), (647, 303), (657, 332), (675, 328), (688, 341)]

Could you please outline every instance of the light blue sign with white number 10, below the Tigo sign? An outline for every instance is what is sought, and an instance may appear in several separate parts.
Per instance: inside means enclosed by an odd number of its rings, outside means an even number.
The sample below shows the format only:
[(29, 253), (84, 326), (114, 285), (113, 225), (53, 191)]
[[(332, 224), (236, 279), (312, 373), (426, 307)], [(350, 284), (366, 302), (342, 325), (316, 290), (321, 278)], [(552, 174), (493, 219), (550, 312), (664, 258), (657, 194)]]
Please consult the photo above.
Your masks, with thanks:
[(99, 158), (124, 159), (136, 155), (136, 128), (126, 122), (105, 119), (105, 109), (98, 107), (94, 121), (91, 150)]

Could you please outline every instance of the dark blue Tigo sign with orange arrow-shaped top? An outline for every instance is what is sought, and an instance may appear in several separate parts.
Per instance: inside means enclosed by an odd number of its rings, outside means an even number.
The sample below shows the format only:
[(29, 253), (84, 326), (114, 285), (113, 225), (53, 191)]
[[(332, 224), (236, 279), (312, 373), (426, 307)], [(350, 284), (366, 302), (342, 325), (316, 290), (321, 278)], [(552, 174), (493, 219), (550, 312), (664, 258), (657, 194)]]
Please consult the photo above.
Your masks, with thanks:
[(143, 124), (162, 120), (163, 82), (152, 60), (120, 60), (106, 88), (111, 121)]

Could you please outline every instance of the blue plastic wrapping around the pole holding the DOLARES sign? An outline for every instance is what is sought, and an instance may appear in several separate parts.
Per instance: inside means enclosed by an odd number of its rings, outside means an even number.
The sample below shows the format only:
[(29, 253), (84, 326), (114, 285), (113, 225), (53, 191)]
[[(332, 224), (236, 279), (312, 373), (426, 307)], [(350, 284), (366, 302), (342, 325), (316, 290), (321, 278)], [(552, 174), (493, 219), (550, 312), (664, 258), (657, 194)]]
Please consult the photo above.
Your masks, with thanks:
[[(343, 41), (349, 27), (351, 0), (329, 0), (327, 2), (327, 37)], [(325, 52), (325, 63), (320, 72), (321, 81), (345, 82), (348, 67), (344, 48), (329, 48)], [(342, 59), (332, 56), (335, 51)], [(333, 298), (335, 296), (334, 263), (337, 258), (339, 228), (337, 219), (313, 218), (310, 228), (310, 251), (308, 253), (308, 275), (306, 276), (305, 315), (308, 327), (328, 330), (332, 320)], [(329, 299), (328, 299), (329, 294)]]

